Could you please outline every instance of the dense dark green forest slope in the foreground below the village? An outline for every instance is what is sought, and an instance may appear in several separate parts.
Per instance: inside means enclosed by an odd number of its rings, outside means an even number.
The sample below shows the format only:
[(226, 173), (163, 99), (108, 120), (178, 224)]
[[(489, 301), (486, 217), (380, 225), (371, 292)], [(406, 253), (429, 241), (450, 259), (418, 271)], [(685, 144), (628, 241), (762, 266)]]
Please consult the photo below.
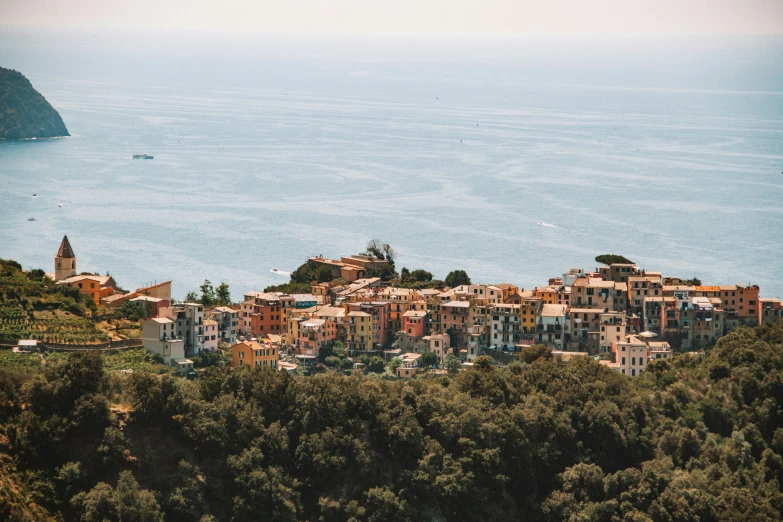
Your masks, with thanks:
[(777, 323), (635, 379), (587, 358), (407, 382), (0, 369), (0, 518), (780, 520), (782, 350)]

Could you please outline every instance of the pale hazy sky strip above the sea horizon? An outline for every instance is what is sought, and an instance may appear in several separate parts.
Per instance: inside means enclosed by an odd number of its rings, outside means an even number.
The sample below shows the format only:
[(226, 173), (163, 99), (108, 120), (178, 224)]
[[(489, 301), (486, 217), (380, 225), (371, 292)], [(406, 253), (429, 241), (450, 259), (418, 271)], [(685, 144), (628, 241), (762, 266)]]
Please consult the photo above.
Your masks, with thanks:
[(783, 0), (0, 0), (0, 26), (283, 34), (781, 34)]

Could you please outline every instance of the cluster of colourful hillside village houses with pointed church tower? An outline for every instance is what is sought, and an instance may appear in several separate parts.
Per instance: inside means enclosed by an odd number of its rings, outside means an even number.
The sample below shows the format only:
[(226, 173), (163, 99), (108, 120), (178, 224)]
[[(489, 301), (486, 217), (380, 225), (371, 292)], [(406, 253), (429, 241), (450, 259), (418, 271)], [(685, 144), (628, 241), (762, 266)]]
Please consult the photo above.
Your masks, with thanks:
[[(71, 261), (74, 273), (60, 267)], [(470, 364), (487, 353), (513, 360), (534, 344), (551, 347), (561, 359), (605, 354), (601, 364), (636, 376), (651, 359), (710, 345), (741, 325), (783, 317), (783, 303), (760, 298), (757, 285), (689, 284), (631, 263), (572, 268), (533, 289), (509, 283), (412, 289), (367, 277), (387, 263), (371, 256), (309, 261), (338, 279), (314, 282), (309, 294), (248, 292), (235, 306), (207, 310), (199, 303), (172, 305), (170, 281), (131, 293), (104, 292), (109, 281), (75, 275), (67, 238), (55, 266), (63, 283), (94, 282), (95, 287), (79, 288), (103, 304), (146, 307), (145, 348), (183, 371), (192, 366), (188, 357), (221, 342), (231, 346), (232, 366), (290, 371), (295, 365), (282, 354), (307, 365), (341, 341), (354, 355), (399, 358), (399, 377), (423, 371), (424, 352), (433, 352), (441, 364), (449, 355)]]

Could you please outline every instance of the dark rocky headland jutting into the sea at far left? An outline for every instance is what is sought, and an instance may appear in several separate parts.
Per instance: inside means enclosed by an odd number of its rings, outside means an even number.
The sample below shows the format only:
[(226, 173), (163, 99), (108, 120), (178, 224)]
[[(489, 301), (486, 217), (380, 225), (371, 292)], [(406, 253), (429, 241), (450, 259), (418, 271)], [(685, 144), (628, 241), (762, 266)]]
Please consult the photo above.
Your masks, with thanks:
[(21, 73), (0, 67), (0, 139), (70, 136), (63, 119)]

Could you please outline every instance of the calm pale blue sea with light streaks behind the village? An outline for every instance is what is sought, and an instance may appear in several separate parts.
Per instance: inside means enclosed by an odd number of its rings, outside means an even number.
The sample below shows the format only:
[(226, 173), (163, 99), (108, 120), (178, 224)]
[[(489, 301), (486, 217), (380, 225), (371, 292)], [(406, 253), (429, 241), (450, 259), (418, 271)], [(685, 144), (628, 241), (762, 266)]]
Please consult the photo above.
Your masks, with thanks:
[(71, 133), (0, 141), (25, 268), (67, 234), (126, 289), (239, 299), (376, 238), (436, 278), (533, 288), (615, 253), (783, 297), (780, 37), (0, 28), (0, 66)]

